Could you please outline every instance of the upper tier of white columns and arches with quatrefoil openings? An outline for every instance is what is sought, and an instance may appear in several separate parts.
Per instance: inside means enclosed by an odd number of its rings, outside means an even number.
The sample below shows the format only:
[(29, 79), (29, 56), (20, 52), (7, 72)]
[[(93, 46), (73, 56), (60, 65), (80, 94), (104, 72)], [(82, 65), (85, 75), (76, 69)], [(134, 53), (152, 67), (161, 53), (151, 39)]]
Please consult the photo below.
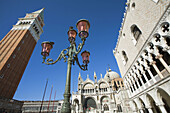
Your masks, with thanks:
[[(153, 80), (152, 83), (156, 83), (163, 79), (165, 75), (161, 72), (162, 70), (166, 69), (170, 73), (169, 40), (168, 36), (161, 36), (156, 33), (146, 44), (142, 53), (124, 77), (126, 87), (130, 89), (130, 95), (143, 91), (147, 88), (146, 85), (151, 86), (151, 80)], [(160, 79), (157, 80), (156, 75)]]

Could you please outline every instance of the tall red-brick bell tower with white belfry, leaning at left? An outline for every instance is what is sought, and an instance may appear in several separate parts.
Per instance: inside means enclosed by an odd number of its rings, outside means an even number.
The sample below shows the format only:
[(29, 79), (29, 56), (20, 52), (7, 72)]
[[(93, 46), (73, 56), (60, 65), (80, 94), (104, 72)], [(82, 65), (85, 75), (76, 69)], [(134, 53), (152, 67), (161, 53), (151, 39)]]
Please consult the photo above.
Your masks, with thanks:
[(13, 98), (43, 26), (44, 8), (19, 18), (0, 41), (0, 98)]

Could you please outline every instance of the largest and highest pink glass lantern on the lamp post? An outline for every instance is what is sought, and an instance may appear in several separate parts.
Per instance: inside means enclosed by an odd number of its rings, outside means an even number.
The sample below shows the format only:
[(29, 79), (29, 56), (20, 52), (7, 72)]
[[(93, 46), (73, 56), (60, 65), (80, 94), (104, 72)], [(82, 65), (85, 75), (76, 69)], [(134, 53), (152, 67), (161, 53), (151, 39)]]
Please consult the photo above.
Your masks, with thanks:
[(80, 38), (87, 38), (89, 35), (90, 23), (88, 20), (80, 19), (77, 24), (77, 29)]

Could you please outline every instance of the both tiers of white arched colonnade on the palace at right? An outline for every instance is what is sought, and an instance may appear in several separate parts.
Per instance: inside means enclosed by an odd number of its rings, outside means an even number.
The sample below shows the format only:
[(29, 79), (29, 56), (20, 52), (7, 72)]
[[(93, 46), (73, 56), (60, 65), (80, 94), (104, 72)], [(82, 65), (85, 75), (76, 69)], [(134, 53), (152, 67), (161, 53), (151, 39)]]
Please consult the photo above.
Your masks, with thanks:
[[(125, 87), (129, 89), (130, 97), (134, 97), (152, 85), (154, 86), (170, 75), (169, 23), (164, 22), (161, 25), (159, 33), (155, 33), (143, 46), (142, 51), (124, 76)], [(143, 101), (139, 96), (135, 96), (131, 100), (133, 112), (168, 113), (170, 103), (167, 101), (170, 97), (167, 93), (160, 95), (160, 93), (156, 96), (146, 94), (145, 99), (149, 101)], [(159, 101), (155, 101), (155, 98)], [(164, 101), (163, 98), (165, 98)]]

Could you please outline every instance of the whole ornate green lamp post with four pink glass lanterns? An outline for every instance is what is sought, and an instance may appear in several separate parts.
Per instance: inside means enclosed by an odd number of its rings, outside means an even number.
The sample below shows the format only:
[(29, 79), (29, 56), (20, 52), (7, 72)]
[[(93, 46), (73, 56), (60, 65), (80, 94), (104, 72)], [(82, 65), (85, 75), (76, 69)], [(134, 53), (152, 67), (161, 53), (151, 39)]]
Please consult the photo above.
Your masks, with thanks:
[(71, 78), (71, 66), (72, 64), (75, 64), (75, 61), (77, 65), (80, 67), (82, 70), (87, 70), (87, 66), (89, 63), (89, 56), (90, 53), (88, 51), (84, 51), (81, 53), (82, 59), (83, 59), (83, 65), (80, 65), (78, 61), (77, 55), (81, 52), (86, 38), (89, 35), (89, 28), (90, 28), (90, 23), (88, 20), (81, 19), (77, 22), (76, 24), (77, 29), (78, 29), (78, 35), (82, 40), (82, 43), (78, 45), (76, 48), (76, 35), (77, 32), (73, 29), (73, 27), (69, 28), (69, 31), (67, 32), (68, 34), (68, 40), (70, 42), (70, 46), (67, 49), (63, 49), (58, 56), (58, 58), (53, 61), (53, 59), (48, 58), (46, 61), (46, 57), (49, 56), (50, 50), (53, 48), (54, 42), (42, 42), (42, 52), (41, 55), (43, 56), (43, 63), (47, 65), (52, 65), (55, 64), (56, 62), (60, 61), (62, 58), (64, 59), (64, 62), (67, 61), (67, 77), (66, 77), (66, 84), (65, 84), (65, 92), (64, 92), (64, 103), (62, 105), (61, 112), (62, 113), (71, 113), (71, 106), (70, 106), (70, 78)]

